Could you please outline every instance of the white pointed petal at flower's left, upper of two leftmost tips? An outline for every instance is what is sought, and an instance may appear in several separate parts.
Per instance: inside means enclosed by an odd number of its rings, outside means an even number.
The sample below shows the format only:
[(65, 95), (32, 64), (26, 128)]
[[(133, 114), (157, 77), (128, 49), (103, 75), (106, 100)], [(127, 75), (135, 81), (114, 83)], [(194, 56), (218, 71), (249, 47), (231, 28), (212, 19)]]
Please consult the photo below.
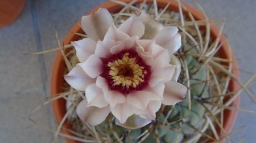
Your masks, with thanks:
[(82, 40), (71, 42), (71, 44), (75, 46), (77, 58), (81, 63), (94, 54), (96, 49), (96, 42), (91, 38), (83, 38)]

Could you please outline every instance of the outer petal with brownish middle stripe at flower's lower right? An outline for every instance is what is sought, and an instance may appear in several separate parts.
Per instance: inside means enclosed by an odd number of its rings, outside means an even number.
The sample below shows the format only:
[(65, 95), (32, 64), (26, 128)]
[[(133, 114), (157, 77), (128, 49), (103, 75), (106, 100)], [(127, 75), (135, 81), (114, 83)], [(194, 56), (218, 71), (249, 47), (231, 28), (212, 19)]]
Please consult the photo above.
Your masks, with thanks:
[(164, 105), (175, 105), (177, 102), (184, 101), (187, 92), (186, 86), (174, 81), (165, 83), (165, 86), (162, 100)]

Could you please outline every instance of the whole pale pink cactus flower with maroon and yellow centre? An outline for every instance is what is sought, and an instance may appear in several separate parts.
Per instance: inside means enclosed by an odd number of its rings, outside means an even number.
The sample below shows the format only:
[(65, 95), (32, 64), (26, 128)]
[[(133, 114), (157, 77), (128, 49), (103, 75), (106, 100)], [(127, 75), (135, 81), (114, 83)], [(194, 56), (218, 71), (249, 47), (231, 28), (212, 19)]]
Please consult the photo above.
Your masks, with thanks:
[(76, 109), (81, 120), (98, 125), (111, 112), (116, 124), (140, 128), (155, 120), (162, 103), (184, 100), (180, 66), (170, 64), (181, 46), (176, 27), (142, 13), (117, 28), (104, 8), (82, 16), (81, 25), (88, 37), (71, 43), (80, 63), (64, 76), (72, 88), (85, 91)]

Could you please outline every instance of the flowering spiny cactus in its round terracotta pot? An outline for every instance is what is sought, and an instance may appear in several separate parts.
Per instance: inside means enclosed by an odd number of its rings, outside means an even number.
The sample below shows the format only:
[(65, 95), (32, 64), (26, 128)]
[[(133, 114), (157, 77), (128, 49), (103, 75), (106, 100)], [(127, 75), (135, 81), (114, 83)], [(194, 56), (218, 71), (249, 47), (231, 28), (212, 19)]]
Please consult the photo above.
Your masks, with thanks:
[(239, 107), (236, 59), (206, 15), (180, 1), (112, 1), (56, 54), (56, 136), (75, 142), (224, 142)]

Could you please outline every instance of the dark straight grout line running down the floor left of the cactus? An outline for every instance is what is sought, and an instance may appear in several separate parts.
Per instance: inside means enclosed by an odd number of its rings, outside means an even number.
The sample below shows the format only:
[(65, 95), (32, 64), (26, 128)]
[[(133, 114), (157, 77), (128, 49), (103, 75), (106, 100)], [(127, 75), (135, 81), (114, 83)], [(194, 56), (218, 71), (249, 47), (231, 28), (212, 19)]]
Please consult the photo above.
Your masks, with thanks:
[[(32, 19), (32, 24), (33, 24), (33, 29), (34, 29), (34, 36), (35, 36), (35, 41), (36, 41), (36, 50), (37, 51), (42, 51), (42, 42), (41, 42), (41, 37), (40, 37), (40, 30), (39, 30), (39, 24), (38, 24), (38, 18), (36, 16), (36, 10), (35, 10), (35, 2), (33, 0), (28, 0), (28, 6), (30, 8), (30, 14), (31, 14), (31, 19)], [(39, 60), (39, 66), (40, 66), (40, 73), (43, 81), (43, 90), (44, 90), (44, 96), (47, 97), (47, 73), (46, 73), (46, 63), (44, 62), (44, 55), (40, 54), (38, 55), (38, 60)]]

